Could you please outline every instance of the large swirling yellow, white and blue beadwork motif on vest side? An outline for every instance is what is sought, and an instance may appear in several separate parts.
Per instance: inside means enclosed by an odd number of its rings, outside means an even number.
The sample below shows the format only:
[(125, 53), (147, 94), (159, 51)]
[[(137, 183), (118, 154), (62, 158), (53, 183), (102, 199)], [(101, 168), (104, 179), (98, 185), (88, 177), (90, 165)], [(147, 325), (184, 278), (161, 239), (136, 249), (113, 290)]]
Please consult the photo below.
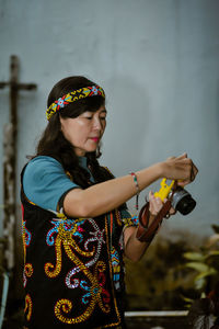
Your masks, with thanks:
[[(95, 305), (99, 305), (103, 313), (110, 313), (110, 293), (105, 290), (106, 264), (104, 261), (100, 261), (100, 253), (102, 245), (105, 243), (105, 230), (100, 230), (99, 225), (92, 218), (84, 219), (60, 219), (60, 215), (51, 220), (53, 228), (49, 229), (46, 236), (46, 242), (50, 247), (55, 247), (56, 264), (46, 263), (45, 273), (48, 277), (53, 279), (60, 274), (62, 268), (62, 252), (65, 251), (73, 268), (66, 276), (66, 285), (68, 288), (80, 288), (84, 291), (81, 303), (87, 306), (81, 315), (78, 317), (68, 317), (73, 305), (71, 300), (59, 299), (55, 306), (56, 317), (64, 324), (79, 324), (87, 320), (93, 313)], [(84, 240), (83, 225), (90, 224), (90, 238)], [(90, 243), (92, 242), (92, 247)], [(93, 245), (95, 242), (95, 246)], [(82, 248), (83, 247), (83, 248)], [(62, 251), (64, 250), (64, 251)], [(84, 264), (81, 259), (84, 257), (88, 259)], [(94, 272), (90, 271), (90, 268), (94, 266)], [(82, 272), (81, 276), (73, 277)]]

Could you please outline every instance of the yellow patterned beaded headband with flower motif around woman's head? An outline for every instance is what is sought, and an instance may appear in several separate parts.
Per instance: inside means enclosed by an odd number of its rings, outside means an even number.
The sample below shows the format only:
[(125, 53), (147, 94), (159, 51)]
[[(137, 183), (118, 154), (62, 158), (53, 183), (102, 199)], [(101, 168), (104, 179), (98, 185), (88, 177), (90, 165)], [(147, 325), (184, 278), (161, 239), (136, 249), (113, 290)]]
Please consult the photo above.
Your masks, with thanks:
[(93, 95), (101, 95), (105, 99), (105, 93), (103, 89), (99, 86), (84, 87), (71, 91), (65, 94), (62, 98), (59, 98), (46, 110), (46, 117), (47, 120), (49, 120), (56, 112), (58, 112), (60, 109), (64, 109), (68, 104)]

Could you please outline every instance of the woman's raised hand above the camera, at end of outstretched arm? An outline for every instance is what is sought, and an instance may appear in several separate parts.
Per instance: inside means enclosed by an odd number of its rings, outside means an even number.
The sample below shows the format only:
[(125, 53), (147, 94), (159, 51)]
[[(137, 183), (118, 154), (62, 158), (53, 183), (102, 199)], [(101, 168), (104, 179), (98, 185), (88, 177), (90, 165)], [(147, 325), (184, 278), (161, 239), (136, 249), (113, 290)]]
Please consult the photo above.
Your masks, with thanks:
[(198, 173), (197, 167), (193, 163), (192, 159), (187, 158), (186, 154), (177, 158), (168, 158), (168, 160), (163, 162), (163, 177), (170, 180), (177, 180), (177, 184), (181, 186), (193, 182)]

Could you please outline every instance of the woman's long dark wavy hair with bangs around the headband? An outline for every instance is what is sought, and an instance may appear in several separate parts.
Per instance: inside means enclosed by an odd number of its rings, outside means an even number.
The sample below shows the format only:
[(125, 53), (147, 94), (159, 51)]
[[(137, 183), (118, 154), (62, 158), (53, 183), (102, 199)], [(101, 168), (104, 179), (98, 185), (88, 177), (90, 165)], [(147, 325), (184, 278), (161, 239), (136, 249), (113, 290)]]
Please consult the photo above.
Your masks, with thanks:
[[(47, 107), (73, 90), (95, 84), (93, 81), (80, 76), (65, 78), (51, 89), (47, 100)], [(49, 156), (58, 160), (65, 171), (69, 172), (73, 181), (82, 188), (89, 186), (90, 174), (85, 169), (80, 167), (72, 145), (65, 138), (59, 116), (77, 117), (87, 111), (95, 112), (104, 104), (105, 99), (102, 95), (95, 95), (78, 100), (59, 110), (58, 113), (55, 113), (50, 117), (36, 148), (36, 156)], [(87, 152), (85, 156), (88, 158), (88, 166), (96, 182), (112, 179), (112, 174), (106, 169), (100, 167), (97, 162), (97, 158), (101, 156), (100, 150), (97, 152)]]

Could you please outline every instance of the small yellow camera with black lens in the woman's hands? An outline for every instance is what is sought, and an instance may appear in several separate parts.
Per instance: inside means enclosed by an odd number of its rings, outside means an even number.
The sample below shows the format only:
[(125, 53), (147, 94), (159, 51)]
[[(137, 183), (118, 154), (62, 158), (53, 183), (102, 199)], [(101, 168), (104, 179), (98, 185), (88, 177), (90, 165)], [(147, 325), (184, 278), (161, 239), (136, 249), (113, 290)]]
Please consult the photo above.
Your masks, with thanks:
[(196, 201), (185, 189), (175, 186), (175, 181), (172, 181), (169, 185), (166, 179), (161, 181), (161, 189), (154, 193), (154, 196), (160, 197), (162, 201), (164, 198), (171, 200), (172, 207), (182, 215), (189, 214), (196, 206)]

